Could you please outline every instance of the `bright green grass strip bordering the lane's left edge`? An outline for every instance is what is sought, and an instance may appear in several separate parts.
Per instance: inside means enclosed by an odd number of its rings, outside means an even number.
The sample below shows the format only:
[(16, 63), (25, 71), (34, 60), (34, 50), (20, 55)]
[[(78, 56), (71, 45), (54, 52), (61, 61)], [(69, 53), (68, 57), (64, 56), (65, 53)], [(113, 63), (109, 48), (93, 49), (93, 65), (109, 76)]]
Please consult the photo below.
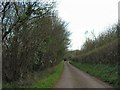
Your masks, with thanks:
[(53, 88), (57, 80), (60, 78), (63, 71), (63, 62), (54, 67), (54, 70), (39, 80), (37, 83), (33, 84), (32, 88)]

